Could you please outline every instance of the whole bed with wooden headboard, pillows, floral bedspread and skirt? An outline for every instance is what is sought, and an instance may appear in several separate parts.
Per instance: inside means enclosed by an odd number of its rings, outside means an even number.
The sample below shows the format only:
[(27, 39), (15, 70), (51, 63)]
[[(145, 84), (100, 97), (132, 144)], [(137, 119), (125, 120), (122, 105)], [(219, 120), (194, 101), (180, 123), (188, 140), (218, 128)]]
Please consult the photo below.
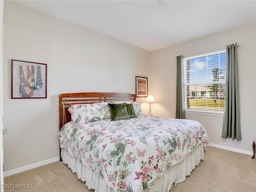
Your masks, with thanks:
[(144, 115), (135, 94), (59, 96), (60, 160), (95, 192), (168, 192), (209, 143), (194, 120)]

